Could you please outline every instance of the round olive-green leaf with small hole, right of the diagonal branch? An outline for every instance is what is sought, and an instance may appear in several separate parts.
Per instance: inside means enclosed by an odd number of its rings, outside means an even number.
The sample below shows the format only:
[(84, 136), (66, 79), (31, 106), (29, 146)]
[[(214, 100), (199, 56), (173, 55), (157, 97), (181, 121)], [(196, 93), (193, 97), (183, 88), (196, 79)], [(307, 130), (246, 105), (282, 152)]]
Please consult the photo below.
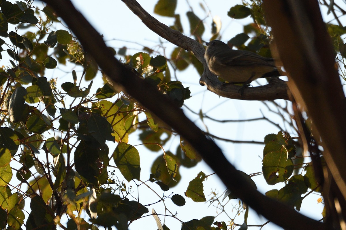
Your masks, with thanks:
[(269, 152), (262, 163), (264, 179), (270, 185), (286, 181), (293, 172), (293, 162), (284, 152)]

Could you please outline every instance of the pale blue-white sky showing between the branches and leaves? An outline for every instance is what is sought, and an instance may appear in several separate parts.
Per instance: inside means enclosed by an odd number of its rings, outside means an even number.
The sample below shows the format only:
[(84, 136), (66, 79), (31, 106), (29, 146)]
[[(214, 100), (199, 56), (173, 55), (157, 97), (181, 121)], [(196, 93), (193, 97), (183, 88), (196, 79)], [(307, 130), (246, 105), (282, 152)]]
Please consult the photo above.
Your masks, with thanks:
[[(95, 3), (94, 0), (73, 0), (75, 7), (80, 10), (83, 15), (91, 22), (91, 24), (104, 36), (104, 39), (107, 41), (107, 44), (116, 50), (126, 46), (128, 48), (128, 54), (134, 54), (136, 52), (142, 51), (143, 45), (157, 50), (155, 55), (162, 55), (164, 53), (167, 56), (170, 55), (172, 50), (175, 48), (169, 42), (166, 42), (164, 39), (160, 38), (157, 34), (149, 30), (144, 26), (144, 24), (140, 21), (140, 19), (135, 16), (126, 5), (120, 0), (98, 0)], [(138, 1), (141, 6), (147, 10), (150, 14), (152, 14), (156, 19), (161, 21), (162, 23), (170, 26), (173, 24), (174, 19), (162, 17), (154, 14), (153, 9), (156, 3), (156, 0), (139, 0)], [(227, 16), (227, 11), (230, 7), (240, 4), (239, 0), (201, 0), (201, 1), (185, 1), (179, 0), (178, 6), (176, 9), (176, 13), (181, 14), (182, 24), (184, 27), (184, 31), (189, 31), (189, 23), (186, 18), (186, 11), (189, 10), (189, 4), (194, 11), (194, 13), (200, 18), (206, 18), (206, 23), (204, 26), (206, 27), (206, 34), (203, 36), (203, 39), (208, 41), (210, 36), (207, 31), (210, 31), (210, 24), (212, 17), (219, 16), (222, 22), (222, 28), (220, 31), (222, 41), (226, 42), (230, 38), (234, 37), (236, 34), (243, 32), (243, 25), (251, 22), (249, 18), (243, 20), (235, 20), (231, 19)], [(204, 6), (206, 10), (203, 10), (200, 7), (200, 4)], [(38, 6), (42, 6), (41, 3), (38, 3)], [(43, 8), (43, 7), (41, 7)], [(211, 16), (209, 16), (209, 10)], [(328, 17), (326, 13), (325, 17)], [(187, 33), (186, 32), (186, 33)], [(209, 37), (208, 37), (209, 36)], [(164, 49), (158, 48), (157, 44), (159, 42), (163, 43)], [(72, 67), (67, 66), (67, 70), (72, 71)], [(72, 75), (69, 73), (62, 73), (58, 70), (54, 70), (56, 72), (52, 73), (52, 76), (61, 76), (59, 80), (61, 83), (64, 80), (71, 80)], [(258, 118), (262, 117), (265, 114), (270, 119), (275, 120), (277, 123), (282, 124), (282, 119), (269, 112), (268, 108), (265, 106), (263, 102), (258, 101), (242, 101), (242, 100), (233, 100), (228, 98), (222, 98), (209, 92), (206, 87), (202, 87), (199, 84), (199, 74), (193, 67), (189, 67), (185, 71), (177, 72), (176, 76), (178, 80), (183, 82), (184, 87), (190, 87), (191, 90), (191, 99), (185, 101), (185, 105), (195, 111), (199, 112), (202, 110), (208, 116), (224, 120), (224, 119), (250, 119), (250, 118)], [(48, 76), (47, 76), (48, 77)], [(100, 79), (100, 76), (97, 76)], [(49, 78), (49, 77), (48, 77)], [(283, 77), (285, 80), (285, 78)], [(97, 88), (101, 86), (101, 81), (97, 79), (94, 80), (93, 90), (95, 91)], [(263, 83), (263, 82), (261, 82)], [(283, 100), (277, 100), (277, 103), (284, 104)], [(272, 108), (272, 107), (271, 107)], [(268, 122), (235, 122), (235, 123), (219, 123), (219, 122), (211, 122), (208, 119), (205, 119), (205, 122), (201, 122), (199, 117), (187, 109), (184, 109), (185, 114), (193, 120), (202, 130), (206, 130), (210, 133), (216, 134), (220, 137), (232, 139), (232, 140), (255, 140), (255, 141), (263, 141), (263, 138), (266, 134), (269, 133), (277, 133), (277, 127), (269, 124)], [(260, 172), (262, 167), (261, 157), (263, 156), (263, 147), (264, 145), (258, 144), (232, 144), (225, 143), (216, 140), (217, 144), (219, 144), (220, 148), (224, 151), (227, 159), (233, 163), (237, 169), (242, 170), (246, 173), (254, 173)], [(137, 139), (137, 135), (132, 134), (129, 138), (129, 143), (132, 145), (139, 144), (140, 141)], [(171, 150), (175, 152), (177, 144), (179, 143), (179, 137), (173, 138), (172, 141), (169, 142), (165, 146), (165, 150)], [(115, 145), (109, 143), (110, 151), (112, 152), (115, 148)], [(151, 166), (151, 160), (155, 159), (158, 153), (153, 153), (148, 151), (143, 146), (136, 146), (138, 151), (140, 152), (141, 157), (141, 168), (142, 175), (148, 175)], [(161, 152), (162, 153), (162, 152)], [(161, 154), (160, 153), (160, 154)], [(155, 155), (156, 154), (156, 155)], [(212, 154), (212, 153), (210, 153)], [(145, 167), (145, 165), (147, 167)], [(183, 179), (180, 184), (168, 191), (174, 192), (176, 194), (180, 194), (184, 196), (183, 192), (186, 191), (186, 187), (190, 180), (192, 180), (197, 174), (203, 171), (205, 174), (212, 174), (210, 168), (203, 162), (200, 162), (196, 167), (192, 169), (186, 169), (181, 167), (180, 172), (183, 175)], [(121, 175), (119, 173), (119, 179), (121, 179)], [(229, 175), (230, 177), (232, 175)], [(141, 178), (145, 180), (147, 178)], [(254, 181), (258, 189), (261, 192), (266, 192), (270, 189), (280, 189), (283, 187), (283, 184), (279, 184), (277, 186), (268, 186), (262, 176), (253, 177)], [(207, 196), (207, 200), (211, 198), (208, 196), (212, 191), (219, 192), (220, 194), (224, 192), (225, 186), (218, 179), (217, 176), (210, 176), (206, 182), (204, 182), (204, 193)], [(134, 188), (134, 190), (136, 190)], [(156, 190), (159, 190), (156, 188)], [(320, 219), (322, 204), (317, 203), (317, 199), (320, 196), (312, 194), (307, 199), (303, 200), (301, 212), (306, 214), (309, 217)], [(153, 195), (153, 193), (149, 189), (145, 189), (144, 186), (140, 187), (139, 191), (139, 199), (140, 202), (150, 203), (150, 200), (157, 201), (157, 197)], [(174, 206), (171, 201), (167, 200), (167, 205), (169, 204), (169, 209), (175, 213), (178, 213), (177, 217), (182, 219), (183, 221), (189, 221), (191, 219), (200, 219), (204, 216), (216, 216), (218, 214), (218, 210), (213, 207), (213, 205), (209, 206), (209, 202), (206, 203), (194, 203), (190, 200), (190, 198), (185, 198), (187, 203), (185, 206), (177, 207)], [(148, 201), (149, 200), (149, 201)], [(235, 200), (234, 205), (238, 203)], [(151, 208), (155, 208), (156, 212), (159, 214), (163, 214), (164, 206), (161, 203), (148, 207), (149, 212), (151, 212)], [(234, 212), (231, 212), (232, 205), (227, 205), (229, 213), (231, 217), (234, 217)], [(250, 209), (251, 210), (251, 209)], [(161, 221), (164, 220), (164, 217), (161, 216)], [(85, 219), (88, 219), (85, 216)], [(215, 219), (216, 221), (228, 221), (225, 215), (221, 215)], [(237, 223), (242, 223), (242, 217), (236, 219)], [(251, 210), (249, 213), (248, 224), (262, 224), (266, 222), (266, 220), (262, 217), (258, 217), (257, 214)], [(180, 222), (175, 220), (174, 218), (167, 217), (165, 219), (166, 225), (171, 229), (180, 229)], [(102, 229), (102, 228), (101, 228)], [(152, 216), (148, 216), (142, 218), (140, 220), (136, 220), (129, 226), (130, 230), (142, 230), (142, 229), (157, 229), (155, 220)], [(237, 228), (236, 228), (237, 229)], [(258, 229), (256, 227), (250, 229)], [(271, 229), (280, 229), (277, 228), (274, 224), (267, 224), (263, 230), (271, 230)]]

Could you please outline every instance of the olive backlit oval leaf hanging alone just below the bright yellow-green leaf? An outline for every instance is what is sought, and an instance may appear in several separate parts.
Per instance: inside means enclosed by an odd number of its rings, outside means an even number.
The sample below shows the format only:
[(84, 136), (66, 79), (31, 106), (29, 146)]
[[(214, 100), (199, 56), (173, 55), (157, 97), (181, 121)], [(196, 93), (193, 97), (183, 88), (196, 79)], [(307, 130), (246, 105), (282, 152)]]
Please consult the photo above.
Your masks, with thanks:
[(120, 142), (113, 152), (113, 159), (122, 176), (129, 182), (140, 177), (140, 161), (137, 149)]

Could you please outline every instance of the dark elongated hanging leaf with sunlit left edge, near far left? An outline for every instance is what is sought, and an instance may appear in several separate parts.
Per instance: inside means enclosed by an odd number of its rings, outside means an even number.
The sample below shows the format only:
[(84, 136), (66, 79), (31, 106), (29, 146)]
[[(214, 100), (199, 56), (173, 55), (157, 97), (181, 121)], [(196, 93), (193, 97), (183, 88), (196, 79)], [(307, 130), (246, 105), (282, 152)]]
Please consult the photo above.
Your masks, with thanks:
[(10, 116), (11, 122), (18, 122), (24, 120), (27, 110), (27, 106), (25, 105), (25, 96), (27, 91), (24, 87), (18, 87), (12, 93), (9, 103), (8, 103), (8, 113)]

